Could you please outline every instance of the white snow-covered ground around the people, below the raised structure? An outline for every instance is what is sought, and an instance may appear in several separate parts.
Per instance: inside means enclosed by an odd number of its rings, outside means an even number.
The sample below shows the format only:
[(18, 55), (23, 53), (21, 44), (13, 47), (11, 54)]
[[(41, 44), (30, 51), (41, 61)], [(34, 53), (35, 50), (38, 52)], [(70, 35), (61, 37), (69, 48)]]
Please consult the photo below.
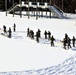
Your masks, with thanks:
[[(51, 47), (50, 41), (44, 39), (45, 30), (50, 31), (58, 40), (62, 40), (65, 33), (71, 39), (73, 36), (76, 37), (76, 19), (39, 18), (36, 20), (34, 17), (28, 19), (26, 16), (22, 16), (22, 18), (19, 15), (12, 16), (8, 14), (6, 17), (5, 12), (0, 12), (1, 29), (3, 25), (6, 25), (7, 30), (9, 27), (12, 28), (14, 23), (17, 25), (17, 31), (12, 30), (11, 39), (0, 35), (0, 75), (76, 74), (76, 48), (65, 50), (59, 42), (55, 42), (55, 47)], [(26, 37), (28, 27), (35, 33), (38, 28), (41, 30), (42, 39), (39, 43)], [(0, 30), (1, 32), (2, 30)], [(71, 72), (70, 74), (67, 72), (68, 70)]]

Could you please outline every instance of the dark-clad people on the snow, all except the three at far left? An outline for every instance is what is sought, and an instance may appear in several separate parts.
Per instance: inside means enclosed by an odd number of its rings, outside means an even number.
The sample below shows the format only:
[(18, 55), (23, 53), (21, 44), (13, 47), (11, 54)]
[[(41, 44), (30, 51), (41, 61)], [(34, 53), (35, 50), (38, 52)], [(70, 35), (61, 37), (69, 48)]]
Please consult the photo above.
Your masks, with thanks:
[[(45, 39), (48, 39), (50, 41), (50, 44), (51, 46), (55, 46), (54, 45), (54, 41), (56, 40), (54, 38), (54, 36), (51, 35), (51, 32), (50, 31), (44, 31), (44, 36), (45, 36)], [(36, 41), (37, 43), (39, 43), (39, 38), (41, 38), (41, 31), (40, 29), (37, 30), (36, 32), (36, 35), (34, 35), (34, 31), (33, 30), (30, 30), (29, 27), (27, 28), (27, 37), (30, 37), (31, 39), (34, 39), (34, 37), (36, 37)], [(75, 36), (73, 36), (72, 39), (70, 39), (70, 37), (67, 35), (67, 33), (65, 33), (65, 37), (63, 38), (62, 41), (60, 41), (61, 43), (63, 43), (63, 48), (64, 49), (69, 49), (69, 48), (72, 48), (71, 46), (71, 42), (73, 44), (73, 47), (75, 47)]]

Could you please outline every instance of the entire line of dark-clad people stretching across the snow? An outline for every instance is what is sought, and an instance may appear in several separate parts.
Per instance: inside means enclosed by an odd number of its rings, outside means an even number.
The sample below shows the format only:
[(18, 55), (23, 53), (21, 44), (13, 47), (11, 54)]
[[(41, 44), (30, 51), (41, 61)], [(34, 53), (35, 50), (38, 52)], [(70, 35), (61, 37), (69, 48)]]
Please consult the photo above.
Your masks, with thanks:
[[(11, 31), (10, 27), (9, 27), (9, 30), (7, 31), (6, 26), (3, 25), (3, 32), (4, 32), (4, 34), (7, 34), (7, 36), (9, 38), (11, 38), (12, 31)], [(15, 23), (13, 25), (13, 32), (16, 32), (16, 24)], [(50, 31), (47, 32), (45, 30), (44, 31), (44, 36), (45, 36), (45, 39), (48, 39), (50, 41), (51, 46), (55, 46), (54, 45), (54, 41), (56, 39), (54, 38), (54, 36), (51, 36), (51, 32)], [(37, 41), (37, 43), (39, 43), (39, 39), (41, 38), (41, 30), (38, 29), (36, 31), (36, 34), (35, 34), (34, 31), (30, 30), (30, 28), (28, 27), (27, 28), (27, 37), (30, 37), (31, 39), (34, 39), (36, 37), (36, 41)], [(70, 37), (68, 36), (68, 34), (65, 33), (65, 37), (60, 42), (63, 43), (63, 48), (64, 49), (67, 49), (67, 48), (69, 49), (69, 48), (72, 48), (71, 43), (73, 44), (73, 47), (75, 47), (75, 40), (76, 40), (75, 36), (73, 36), (73, 38), (70, 39)]]

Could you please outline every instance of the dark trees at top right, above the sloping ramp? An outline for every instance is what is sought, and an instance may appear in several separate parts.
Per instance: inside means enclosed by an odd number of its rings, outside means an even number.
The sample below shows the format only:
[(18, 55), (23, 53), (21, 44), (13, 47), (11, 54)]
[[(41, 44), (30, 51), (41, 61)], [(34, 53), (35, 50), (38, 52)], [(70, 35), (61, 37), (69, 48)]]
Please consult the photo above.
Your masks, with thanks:
[[(52, 2), (62, 9), (62, 0), (52, 0)], [(76, 10), (76, 0), (63, 0), (64, 12), (75, 13), (75, 10)]]

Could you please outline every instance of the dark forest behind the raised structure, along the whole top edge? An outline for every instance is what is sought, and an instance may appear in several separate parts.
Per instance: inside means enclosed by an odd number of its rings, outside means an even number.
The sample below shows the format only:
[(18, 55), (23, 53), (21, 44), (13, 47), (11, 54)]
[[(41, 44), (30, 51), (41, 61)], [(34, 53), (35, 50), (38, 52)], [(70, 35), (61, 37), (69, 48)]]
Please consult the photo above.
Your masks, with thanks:
[[(12, 6), (13, 0), (7, 0), (8, 8)], [(28, 2), (28, 0), (22, 0)], [(29, 0), (36, 2), (36, 0)], [(76, 0), (37, 0), (38, 2), (48, 2), (51, 5), (57, 5), (60, 9), (67, 13), (75, 13), (76, 10)], [(63, 1), (63, 2), (62, 2)], [(19, 0), (14, 0), (14, 2), (18, 2)], [(63, 6), (62, 6), (63, 5)], [(0, 0), (0, 10), (5, 10), (5, 0)]]

